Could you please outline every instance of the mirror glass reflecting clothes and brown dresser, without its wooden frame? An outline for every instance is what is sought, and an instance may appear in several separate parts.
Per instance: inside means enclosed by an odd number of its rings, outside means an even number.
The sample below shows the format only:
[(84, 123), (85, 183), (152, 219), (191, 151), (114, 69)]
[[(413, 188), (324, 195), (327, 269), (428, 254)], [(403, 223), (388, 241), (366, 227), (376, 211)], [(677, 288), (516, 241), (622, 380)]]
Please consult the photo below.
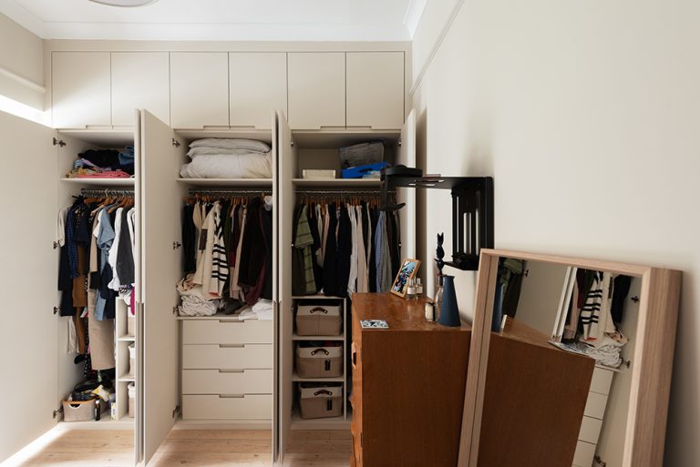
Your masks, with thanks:
[[(622, 465), (640, 289), (641, 278), (499, 259), (480, 466)], [(491, 370), (506, 346), (504, 364), (522, 372), (518, 381), (499, 382)], [(523, 417), (489, 427), (489, 411), (504, 410)], [(509, 449), (489, 446), (484, 430), (500, 430)]]

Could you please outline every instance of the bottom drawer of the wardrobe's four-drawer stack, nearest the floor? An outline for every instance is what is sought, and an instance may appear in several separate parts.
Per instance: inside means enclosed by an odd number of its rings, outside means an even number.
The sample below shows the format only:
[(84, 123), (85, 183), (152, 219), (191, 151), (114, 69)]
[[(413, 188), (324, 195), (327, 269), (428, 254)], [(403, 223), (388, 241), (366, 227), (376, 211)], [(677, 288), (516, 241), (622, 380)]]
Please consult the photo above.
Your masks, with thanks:
[(182, 396), (184, 420), (271, 420), (273, 396)]

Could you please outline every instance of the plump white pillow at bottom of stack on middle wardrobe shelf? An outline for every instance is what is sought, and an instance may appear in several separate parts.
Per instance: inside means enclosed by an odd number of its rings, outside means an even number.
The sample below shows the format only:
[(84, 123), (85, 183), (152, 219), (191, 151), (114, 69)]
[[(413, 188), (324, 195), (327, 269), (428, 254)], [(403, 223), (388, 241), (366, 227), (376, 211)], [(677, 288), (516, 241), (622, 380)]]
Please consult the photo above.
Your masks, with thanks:
[(182, 178), (272, 178), (273, 157), (248, 153), (241, 156), (201, 155), (180, 169)]

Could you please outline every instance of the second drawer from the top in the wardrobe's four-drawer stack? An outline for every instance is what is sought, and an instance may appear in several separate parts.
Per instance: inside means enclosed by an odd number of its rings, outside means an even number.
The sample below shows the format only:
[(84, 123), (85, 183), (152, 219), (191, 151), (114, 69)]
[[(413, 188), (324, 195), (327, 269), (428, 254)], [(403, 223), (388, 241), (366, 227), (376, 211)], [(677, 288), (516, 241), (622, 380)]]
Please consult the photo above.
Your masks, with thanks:
[(182, 346), (183, 370), (273, 368), (272, 344), (190, 344)]

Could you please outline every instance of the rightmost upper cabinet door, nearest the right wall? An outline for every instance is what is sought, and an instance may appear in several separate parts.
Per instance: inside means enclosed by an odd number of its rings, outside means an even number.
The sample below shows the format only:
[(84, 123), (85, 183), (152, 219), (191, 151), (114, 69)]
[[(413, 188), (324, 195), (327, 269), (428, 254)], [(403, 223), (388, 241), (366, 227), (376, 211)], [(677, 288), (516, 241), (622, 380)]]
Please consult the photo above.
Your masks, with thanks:
[(400, 128), (405, 100), (403, 52), (348, 52), (348, 127)]

